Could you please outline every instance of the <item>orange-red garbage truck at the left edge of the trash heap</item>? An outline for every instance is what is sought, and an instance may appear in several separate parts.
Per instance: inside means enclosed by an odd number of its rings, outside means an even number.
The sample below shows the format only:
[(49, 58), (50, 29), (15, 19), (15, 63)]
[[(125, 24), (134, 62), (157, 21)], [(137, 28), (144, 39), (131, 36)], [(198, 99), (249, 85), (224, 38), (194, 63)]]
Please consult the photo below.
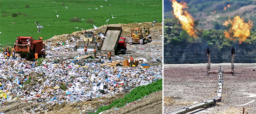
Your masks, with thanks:
[(35, 53), (38, 54), (38, 57), (45, 57), (43, 40), (34, 40), (33, 37), (18, 36), (14, 43), (14, 49), (22, 58), (34, 58)]

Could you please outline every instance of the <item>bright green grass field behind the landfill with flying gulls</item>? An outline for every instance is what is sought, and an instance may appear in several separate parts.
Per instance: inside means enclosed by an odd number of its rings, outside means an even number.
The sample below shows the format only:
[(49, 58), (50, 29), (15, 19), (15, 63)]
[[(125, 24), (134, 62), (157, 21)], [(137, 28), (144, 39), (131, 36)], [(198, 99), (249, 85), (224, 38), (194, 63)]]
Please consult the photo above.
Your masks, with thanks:
[[(107, 19), (108, 24), (153, 22), (155, 19), (162, 22), (162, 7), (162, 0), (0, 0), (0, 47), (13, 46), (17, 36), (47, 40), (54, 35), (81, 31), (81, 28), (91, 29), (93, 25), (86, 23), (88, 19), (93, 19), (96, 27), (106, 25)], [(13, 13), (18, 16), (12, 17)], [(117, 18), (112, 19), (111, 13)], [(60, 15), (59, 18), (56, 15)], [(70, 22), (72, 17), (84, 20)], [(37, 33), (35, 21), (44, 27), (40, 33)]]

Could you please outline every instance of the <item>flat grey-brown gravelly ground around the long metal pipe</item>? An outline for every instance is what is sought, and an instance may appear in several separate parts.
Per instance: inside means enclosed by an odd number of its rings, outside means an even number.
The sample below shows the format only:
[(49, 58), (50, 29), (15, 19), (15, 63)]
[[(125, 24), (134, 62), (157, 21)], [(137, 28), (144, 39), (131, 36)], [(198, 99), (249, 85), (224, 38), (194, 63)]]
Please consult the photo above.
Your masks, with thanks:
[[(164, 64), (163, 113), (217, 96), (217, 74), (207, 64)], [(231, 63), (211, 64), (211, 70), (231, 70)], [(256, 64), (235, 64), (235, 74), (223, 75), (222, 100), (192, 114), (256, 114)]]

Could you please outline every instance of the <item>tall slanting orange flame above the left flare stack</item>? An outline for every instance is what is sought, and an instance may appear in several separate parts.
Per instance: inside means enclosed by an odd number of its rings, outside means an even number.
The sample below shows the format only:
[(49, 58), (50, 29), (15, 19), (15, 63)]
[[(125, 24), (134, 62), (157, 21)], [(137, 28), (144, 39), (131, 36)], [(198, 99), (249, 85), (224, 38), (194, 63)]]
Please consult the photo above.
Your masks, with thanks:
[(173, 3), (172, 7), (173, 7), (174, 15), (177, 19), (181, 21), (182, 28), (186, 30), (190, 36), (197, 37), (195, 35), (196, 31), (194, 30), (193, 17), (186, 10), (182, 10), (184, 8), (189, 8), (186, 6), (187, 3), (185, 2), (178, 3), (175, 0), (170, 0), (170, 2)]

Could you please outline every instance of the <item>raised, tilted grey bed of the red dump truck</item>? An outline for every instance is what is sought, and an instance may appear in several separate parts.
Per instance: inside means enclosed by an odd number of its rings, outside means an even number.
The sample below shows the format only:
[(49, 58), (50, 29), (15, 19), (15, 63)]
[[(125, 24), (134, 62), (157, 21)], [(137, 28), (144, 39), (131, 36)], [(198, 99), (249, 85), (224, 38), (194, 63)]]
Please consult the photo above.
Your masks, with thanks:
[(101, 41), (101, 51), (115, 52), (121, 33), (122, 27), (107, 27), (104, 33), (106, 38)]

